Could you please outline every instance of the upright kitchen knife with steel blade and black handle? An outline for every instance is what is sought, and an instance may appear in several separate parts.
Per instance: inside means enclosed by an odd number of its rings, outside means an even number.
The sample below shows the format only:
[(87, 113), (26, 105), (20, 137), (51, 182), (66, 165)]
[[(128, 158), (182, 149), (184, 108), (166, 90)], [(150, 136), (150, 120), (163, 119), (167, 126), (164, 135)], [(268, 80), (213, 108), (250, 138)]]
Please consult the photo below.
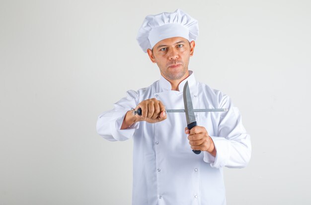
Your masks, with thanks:
[[(197, 121), (195, 119), (190, 90), (189, 90), (189, 84), (188, 81), (184, 85), (183, 90), (183, 99), (184, 99), (184, 105), (185, 105), (185, 114), (186, 114), (186, 120), (187, 120), (187, 128), (191, 130), (193, 127), (197, 126)], [(195, 154), (200, 154), (201, 150), (193, 150), (192, 151)]]

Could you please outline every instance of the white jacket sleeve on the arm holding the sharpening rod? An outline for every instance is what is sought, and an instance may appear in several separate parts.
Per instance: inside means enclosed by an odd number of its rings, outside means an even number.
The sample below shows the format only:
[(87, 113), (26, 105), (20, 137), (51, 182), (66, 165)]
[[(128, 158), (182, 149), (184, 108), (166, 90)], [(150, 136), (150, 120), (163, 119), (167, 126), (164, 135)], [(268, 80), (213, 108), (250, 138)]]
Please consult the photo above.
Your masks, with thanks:
[(114, 104), (114, 109), (99, 115), (96, 123), (98, 135), (109, 141), (124, 141), (133, 137), (135, 129), (139, 128), (139, 122), (124, 130), (120, 130), (120, 128), (127, 111), (135, 108), (138, 104), (137, 101), (138, 92), (129, 90), (126, 97)]

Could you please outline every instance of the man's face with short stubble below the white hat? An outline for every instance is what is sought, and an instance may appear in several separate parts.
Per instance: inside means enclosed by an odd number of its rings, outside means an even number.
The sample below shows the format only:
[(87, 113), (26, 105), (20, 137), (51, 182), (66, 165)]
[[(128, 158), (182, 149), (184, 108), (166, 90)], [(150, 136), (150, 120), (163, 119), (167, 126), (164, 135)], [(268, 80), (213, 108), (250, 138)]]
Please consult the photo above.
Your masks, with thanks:
[(188, 75), (190, 56), (193, 55), (195, 43), (182, 37), (163, 39), (156, 43), (147, 53), (153, 63), (160, 69), (167, 80), (177, 80)]

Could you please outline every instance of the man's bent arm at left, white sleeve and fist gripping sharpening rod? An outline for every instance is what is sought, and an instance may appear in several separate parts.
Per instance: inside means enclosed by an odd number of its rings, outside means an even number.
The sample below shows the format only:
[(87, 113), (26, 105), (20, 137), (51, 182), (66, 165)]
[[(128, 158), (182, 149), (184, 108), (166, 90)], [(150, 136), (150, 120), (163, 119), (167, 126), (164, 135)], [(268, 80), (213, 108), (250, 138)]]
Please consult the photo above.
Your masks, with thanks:
[[(115, 103), (113, 110), (102, 113), (96, 124), (97, 133), (110, 141), (123, 141), (133, 137), (135, 129), (139, 128), (140, 121), (157, 123), (167, 118), (165, 106), (155, 98), (139, 103), (138, 93), (130, 90), (127, 97)], [(142, 109), (142, 116), (133, 115), (130, 108)]]

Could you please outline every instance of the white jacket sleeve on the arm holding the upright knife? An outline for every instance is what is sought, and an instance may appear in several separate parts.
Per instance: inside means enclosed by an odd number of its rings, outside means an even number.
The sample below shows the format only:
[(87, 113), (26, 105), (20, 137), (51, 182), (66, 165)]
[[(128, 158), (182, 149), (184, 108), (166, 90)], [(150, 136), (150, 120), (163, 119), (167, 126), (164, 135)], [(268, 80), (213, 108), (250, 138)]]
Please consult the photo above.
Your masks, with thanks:
[(214, 168), (246, 167), (251, 156), (251, 143), (242, 125), (240, 112), (227, 95), (223, 96), (220, 108), (229, 108), (229, 111), (221, 113), (218, 136), (211, 136), (217, 151), (216, 157), (205, 151), (204, 161)]

